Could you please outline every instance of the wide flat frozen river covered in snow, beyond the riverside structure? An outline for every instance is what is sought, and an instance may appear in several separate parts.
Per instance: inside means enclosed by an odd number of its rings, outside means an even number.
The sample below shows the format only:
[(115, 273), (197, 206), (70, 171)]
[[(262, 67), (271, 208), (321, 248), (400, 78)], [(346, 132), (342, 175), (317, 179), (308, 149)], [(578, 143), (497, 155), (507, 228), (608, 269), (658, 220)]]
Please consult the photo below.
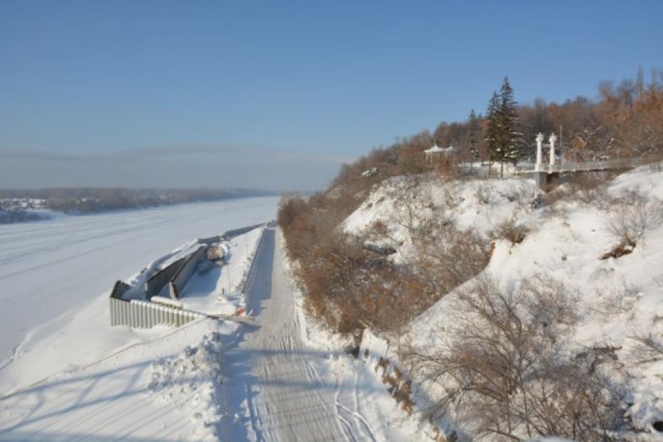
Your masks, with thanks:
[(26, 334), (102, 296), (196, 237), (270, 220), (279, 198), (245, 198), (0, 225), (0, 370)]

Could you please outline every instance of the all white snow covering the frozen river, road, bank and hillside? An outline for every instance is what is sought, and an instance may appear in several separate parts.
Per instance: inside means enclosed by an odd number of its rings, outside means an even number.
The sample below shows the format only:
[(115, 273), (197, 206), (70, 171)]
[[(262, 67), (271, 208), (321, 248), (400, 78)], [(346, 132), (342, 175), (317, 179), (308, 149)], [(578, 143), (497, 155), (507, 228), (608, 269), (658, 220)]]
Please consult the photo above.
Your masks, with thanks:
[[(630, 417), (642, 440), (654, 440), (663, 365), (637, 363), (633, 337), (663, 333), (663, 218), (652, 217), (632, 253), (600, 257), (620, 240), (610, 221), (626, 210), (623, 198), (637, 190), (647, 207), (659, 207), (659, 170), (638, 168), (595, 198), (571, 195), (551, 207), (538, 207), (541, 193), (528, 180), (392, 178), (342, 228), (396, 247), (398, 260), (416, 253), (409, 227), (427, 220), (450, 220), (486, 240), (505, 220), (527, 226), (522, 243), (495, 242), (485, 272), (505, 285), (546, 274), (577, 293), (580, 322), (568, 350), (617, 348)], [(462, 423), (426, 419), (440, 392), (422, 374), (399, 377), (394, 340), (365, 330), (355, 359), (343, 351), (348, 340), (306, 315), (272, 225), (231, 238), (228, 264), (199, 269), (182, 290), (187, 309), (245, 308), (252, 319), (109, 327), (115, 280), (140, 284), (140, 269), (184, 256), (195, 237), (264, 222), (275, 208), (275, 198), (253, 198), (0, 227), (0, 440), (419, 441), (452, 429), (468, 440)], [(388, 235), (375, 234), (378, 221)], [(436, 346), (454, 296), (416, 318), (402, 340)], [(387, 390), (389, 379), (399, 388), (412, 381), (413, 414)]]

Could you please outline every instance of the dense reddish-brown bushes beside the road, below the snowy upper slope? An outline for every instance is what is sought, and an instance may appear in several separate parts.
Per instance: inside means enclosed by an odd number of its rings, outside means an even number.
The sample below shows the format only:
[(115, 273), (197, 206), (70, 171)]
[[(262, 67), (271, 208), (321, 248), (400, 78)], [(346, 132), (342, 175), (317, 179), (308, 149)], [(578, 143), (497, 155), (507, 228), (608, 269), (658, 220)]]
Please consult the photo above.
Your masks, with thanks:
[[(420, 253), (410, 265), (397, 266), (389, 257), (393, 249), (367, 246), (338, 231), (346, 214), (336, 210), (336, 201), (321, 194), (308, 201), (291, 196), (279, 208), (306, 307), (336, 331), (372, 327), (400, 337), (411, 318), (487, 264), (488, 244), (474, 232), (419, 220), (410, 231)], [(369, 233), (387, 235), (387, 226), (375, 222)]]

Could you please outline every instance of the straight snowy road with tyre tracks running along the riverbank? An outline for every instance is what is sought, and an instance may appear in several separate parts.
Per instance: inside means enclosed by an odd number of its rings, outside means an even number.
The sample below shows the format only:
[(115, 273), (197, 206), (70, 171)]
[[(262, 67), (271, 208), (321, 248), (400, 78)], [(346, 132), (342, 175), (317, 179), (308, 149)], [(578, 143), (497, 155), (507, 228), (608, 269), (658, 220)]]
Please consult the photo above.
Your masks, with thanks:
[(301, 339), (273, 228), (265, 232), (247, 291), (257, 323), (223, 357), (225, 400), (230, 414), (237, 414), (228, 439), (372, 440), (365, 419), (339, 403), (338, 384), (318, 375), (316, 360), (328, 354), (307, 348)]

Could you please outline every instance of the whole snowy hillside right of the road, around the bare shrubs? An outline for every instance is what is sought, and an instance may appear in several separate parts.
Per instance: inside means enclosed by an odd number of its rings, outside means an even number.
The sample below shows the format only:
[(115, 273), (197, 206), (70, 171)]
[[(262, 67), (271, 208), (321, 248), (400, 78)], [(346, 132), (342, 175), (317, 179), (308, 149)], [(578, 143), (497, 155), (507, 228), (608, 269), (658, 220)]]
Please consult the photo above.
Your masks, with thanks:
[[(559, 199), (553, 203), (554, 198)], [(655, 438), (654, 424), (663, 421), (661, 167), (641, 167), (598, 188), (565, 184), (549, 200), (546, 205), (534, 184), (524, 180), (442, 183), (399, 177), (374, 190), (345, 220), (344, 228), (368, 242), (397, 249), (399, 253), (392, 255), (397, 262), (416, 256), (411, 232), (426, 220), (472, 228), (494, 242), (485, 271), (413, 320), (402, 338), (409, 343), (410, 356), (401, 354), (399, 363), (411, 368), (419, 410), (440, 404), (448, 394), (458, 397), (458, 406), (438, 420), (447, 434), (455, 431), (456, 436), (471, 438), (478, 419), (473, 410), (460, 406), (460, 397), (465, 397), (460, 395), (472, 398), (472, 393), (463, 393), (458, 379), (436, 372), (439, 367), (433, 359), (442, 360), (458, 350), (450, 344), (455, 337), (468, 339), (468, 333), (459, 330), (461, 325), (481, 324), (476, 311), (470, 316), (468, 311), (459, 312), (468, 300), (483, 299), (477, 293), (485, 281), (495, 281), (489, 290), (507, 293), (504, 302), (512, 302), (514, 315), (532, 321), (532, 331), (548, 327), (550, 333), (559, 333), (550, 344), (557, 360), (578, 366), (588, 363), (591, 370), (609, 374), (615, 391), (624, 395), (632, 433)], [(499, 226), (507, 220), (522, 232), (515, 242), (500, 236)], [(535, 318), (532, 306), (541, 300), (539, 313), (546, 301), (559, 302), (551, 310), (553, 324)], [(487, 323), (492, 326), (490, 320)], [(387, 345), (393, 336), (382, 335), (384, 344), (370, 336), (365, 342), (367, 354), (371, 349), (399, 360), (396, 347)], [(473, 399), (467, 400), (471, 404)], [(514, 431), (527, 438), (525, 426)]]

